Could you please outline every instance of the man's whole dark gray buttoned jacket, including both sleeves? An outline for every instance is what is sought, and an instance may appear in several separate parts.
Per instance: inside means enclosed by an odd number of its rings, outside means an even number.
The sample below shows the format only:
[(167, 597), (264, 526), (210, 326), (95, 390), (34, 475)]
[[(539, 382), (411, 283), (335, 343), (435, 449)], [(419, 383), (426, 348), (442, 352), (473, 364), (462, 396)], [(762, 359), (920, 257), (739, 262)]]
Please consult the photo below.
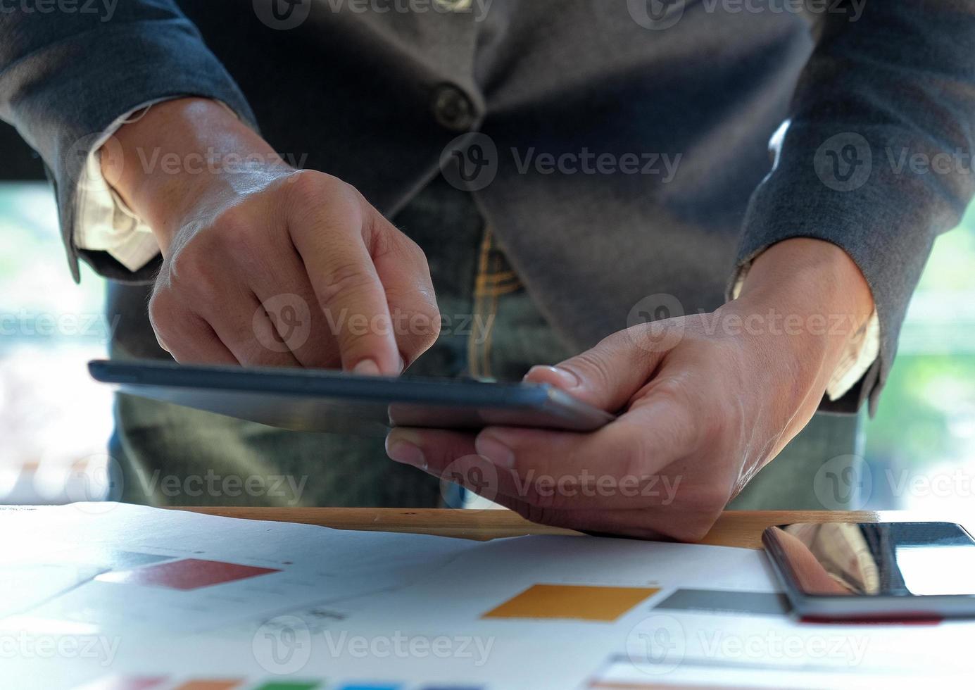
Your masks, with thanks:
[[(0, 3), (0, 117), (50, 169), (75, 275), (84, 142), (148, 100), (208, 96), (386, 213), (473, 151), (487, 220), (580, 348), (646, 295), (713, 310), (769, 245), (833, 242), (881, 327), (878, 363), (828, 405), (848, 411), (876, 402), (931, 244), (973, 193), (972, 0), (113, 1)], [(154, 270), (81, 256), (116, 280)]]

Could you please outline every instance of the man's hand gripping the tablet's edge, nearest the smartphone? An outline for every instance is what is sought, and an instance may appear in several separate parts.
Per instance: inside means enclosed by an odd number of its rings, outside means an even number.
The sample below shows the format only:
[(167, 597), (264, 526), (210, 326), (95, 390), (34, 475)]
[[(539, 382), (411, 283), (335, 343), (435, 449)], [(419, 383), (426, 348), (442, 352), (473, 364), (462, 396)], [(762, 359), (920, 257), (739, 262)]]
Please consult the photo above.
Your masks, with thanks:
[(396, 429), (387, 449), (537, 522), (695, 540), (812, 417), (872, 312), (841, 249), (791, 240), (766, 250), (717, 312), (634, 326), (528, 373), (622, 410), (603, 429)]

